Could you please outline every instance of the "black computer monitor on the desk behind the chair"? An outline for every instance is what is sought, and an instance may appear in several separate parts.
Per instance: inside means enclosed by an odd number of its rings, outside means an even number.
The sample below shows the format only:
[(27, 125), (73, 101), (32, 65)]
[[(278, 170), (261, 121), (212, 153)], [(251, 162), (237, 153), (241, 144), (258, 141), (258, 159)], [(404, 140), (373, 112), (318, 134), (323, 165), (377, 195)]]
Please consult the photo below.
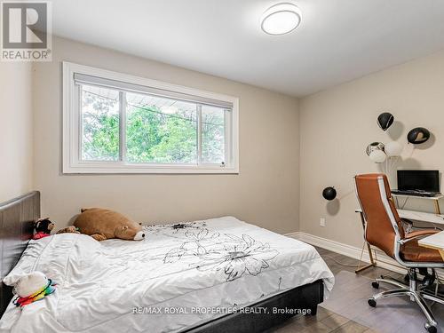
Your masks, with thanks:
[(399, 191), (440, 192), (439, 170), (398, 170)]

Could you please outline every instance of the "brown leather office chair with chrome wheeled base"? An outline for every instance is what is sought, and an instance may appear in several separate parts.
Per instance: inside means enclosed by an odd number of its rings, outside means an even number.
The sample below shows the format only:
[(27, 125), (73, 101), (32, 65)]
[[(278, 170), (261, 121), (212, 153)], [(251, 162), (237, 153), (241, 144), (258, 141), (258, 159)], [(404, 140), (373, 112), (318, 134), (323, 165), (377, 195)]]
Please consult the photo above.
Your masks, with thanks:
[(380, 292), (369, 298), (369, 305), (375, 307), (377, 299), (392, 296), (408, 296), (423, 311), (427, 322), (424, 328), (435, 333), (437, 322), (433, 313), (425, 303), (425, 299), (444, 305), (444, 299), (435, 296), (418, 283), (416, 269), (444, 268), (444, 262), (437, 250), (427, 249), (418, 245), (418, 238), (435, 234), (438, 230), (419, 230), (406, 234), (402, 221), (395, 208), (390, 186), (384, 174), (358, 175), (354, 178), (356, 194), (366, 220), (365, 239), (370, 245), (383, 250), (401, 266), (408, 269), (409, 285), (393, 279), (376, 279), (374, 288), (379, 282), (389, 283), (397, 289)]

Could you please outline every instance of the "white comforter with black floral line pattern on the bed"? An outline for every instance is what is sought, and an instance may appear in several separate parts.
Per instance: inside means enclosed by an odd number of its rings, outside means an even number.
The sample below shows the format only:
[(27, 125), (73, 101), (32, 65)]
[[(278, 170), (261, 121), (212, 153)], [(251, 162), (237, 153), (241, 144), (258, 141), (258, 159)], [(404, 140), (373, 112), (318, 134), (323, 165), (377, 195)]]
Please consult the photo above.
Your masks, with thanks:
[(287, 289), (334, 278), (312, 246), (236, 218), (147, 226), (145, 241), (96, 242), (81, 234), (31, 241), (5, 278), (42, 271), (56, 291), (0, 331), (176, 332)]

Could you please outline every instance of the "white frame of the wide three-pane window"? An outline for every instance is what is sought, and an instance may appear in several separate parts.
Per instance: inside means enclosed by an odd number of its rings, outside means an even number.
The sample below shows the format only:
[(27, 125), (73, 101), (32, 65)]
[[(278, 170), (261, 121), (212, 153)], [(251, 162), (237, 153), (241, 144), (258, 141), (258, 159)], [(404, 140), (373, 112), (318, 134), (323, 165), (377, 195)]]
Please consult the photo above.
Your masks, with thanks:
[[(219, 100), (233, 105), (230, 119), (226, 122), (225, 164), (179, 163), (128, 163), (124, 160), (81, 160), (81, 100), (75, 74), (92, 75), (123, 83), (138, 84), (147, 88), (183, 93), (196, 98)], [(200, 119), (198, 119), (200, 121)], [(121, 126), (123, 124), (121, 123)], [(198, 123), (199, 125), (199, 123)], [(123, 131), (124, 132), (124, 131)], [(171, 83), (163, 83), (144, 77), (127, 75), (106, 69), (63, 62), (63, 173), (239, 173), (239, 99), (210, 91), (201, 91)], [(122, 138), (120, 145), (123, 145)], [(120, 152), (124, 154), (122, 147)]]

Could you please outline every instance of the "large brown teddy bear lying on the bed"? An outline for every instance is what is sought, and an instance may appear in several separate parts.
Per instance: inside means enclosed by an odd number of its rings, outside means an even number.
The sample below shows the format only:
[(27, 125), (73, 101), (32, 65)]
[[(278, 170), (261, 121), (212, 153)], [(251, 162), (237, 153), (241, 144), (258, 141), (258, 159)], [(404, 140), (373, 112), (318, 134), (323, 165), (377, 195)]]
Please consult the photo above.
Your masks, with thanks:
[(82, 234), (89, 234), (96, 241), (112, 238), (141, 241), (145, 238), (142, 226), (116, 211), (90, 208), (82, 209), (81, 212), (75, 218), (74, 226)]

